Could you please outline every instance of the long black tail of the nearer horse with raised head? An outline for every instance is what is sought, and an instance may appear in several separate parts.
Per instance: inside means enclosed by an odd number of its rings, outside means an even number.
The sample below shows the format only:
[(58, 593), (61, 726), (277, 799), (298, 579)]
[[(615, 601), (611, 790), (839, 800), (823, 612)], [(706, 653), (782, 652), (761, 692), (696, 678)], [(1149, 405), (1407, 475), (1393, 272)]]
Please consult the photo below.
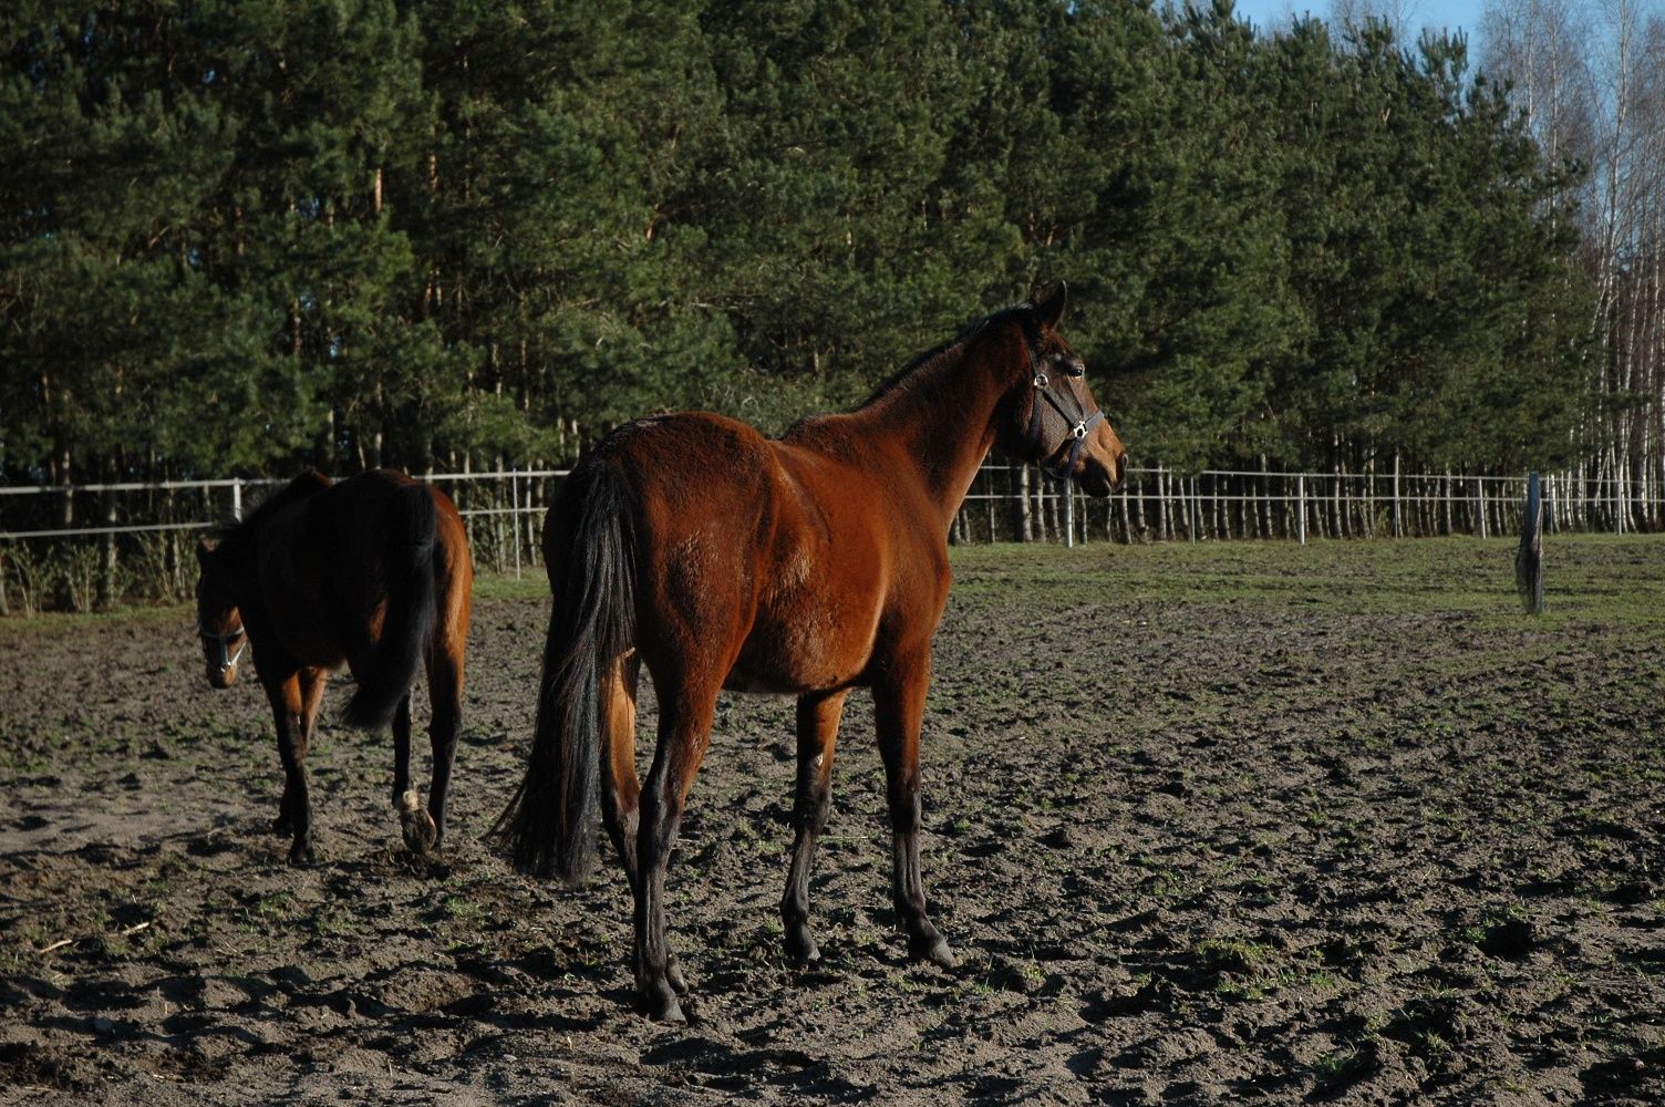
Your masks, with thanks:
[(636, 638), (636, 566), (629, 491), (606, 463), (579, 464), (549, 511), (544, 554), (554, 584), (543, 649), (538, 722), (526, 777), (491, 832), (514, 866), (574, 884), (596, 856), (601, 681)]

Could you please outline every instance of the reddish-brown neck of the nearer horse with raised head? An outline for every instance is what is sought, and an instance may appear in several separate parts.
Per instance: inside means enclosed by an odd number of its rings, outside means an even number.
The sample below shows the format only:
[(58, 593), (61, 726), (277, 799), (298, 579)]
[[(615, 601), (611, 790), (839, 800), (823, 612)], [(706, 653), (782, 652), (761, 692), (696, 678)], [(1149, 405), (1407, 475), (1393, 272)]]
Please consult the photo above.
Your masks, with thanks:
[(1021, 340), (982, 336), (952, 346), (852, 413), (872, 434), (896, 439), (906, 461), (889, 478), (917, 473), (944, 533), (994, 444), (996, 413), (1011, 386), (1001, 366), (1016, 356), (1006, 348), (1012, 341)]

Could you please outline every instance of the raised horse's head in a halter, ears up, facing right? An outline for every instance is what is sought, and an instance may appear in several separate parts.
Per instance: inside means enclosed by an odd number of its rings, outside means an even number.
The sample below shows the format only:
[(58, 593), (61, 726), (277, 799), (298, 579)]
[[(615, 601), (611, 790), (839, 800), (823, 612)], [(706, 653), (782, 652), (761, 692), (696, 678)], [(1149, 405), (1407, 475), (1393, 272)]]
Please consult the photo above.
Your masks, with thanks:
[(1007, 453), (1052, 476), (1074, 479), (1089, 496), (1109, 496), (1127, 471), (1127, 449), (1087, 388), (1086, 365), (1057, 333), (1069, 290), (1054, 281), (1027, 301), (1029, 375), (1002, 428)]

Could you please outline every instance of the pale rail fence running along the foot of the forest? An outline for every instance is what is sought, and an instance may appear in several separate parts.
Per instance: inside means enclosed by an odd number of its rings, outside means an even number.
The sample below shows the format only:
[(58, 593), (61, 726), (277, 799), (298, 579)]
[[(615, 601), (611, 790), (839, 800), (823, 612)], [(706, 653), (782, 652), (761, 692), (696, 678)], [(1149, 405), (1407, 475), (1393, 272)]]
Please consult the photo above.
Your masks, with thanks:
[[(543, 513), (566, 469), (433, 473), (468, 526), (478, 564), (538, 564)], [(0, 486), (0, 614), (88, 611), (122, 598), (176, 599), (195, 586), (193, 538), (240, 518), (281, 479)], [(1585, 473), (1543, 478), (1543, 528), (1665, 531), (1658, 483)], [(1517, 536), (1527, 474), (1131, 469), (1107, 499), (1021, 464), (986, 463), (956, 543), (1229, 541)]]

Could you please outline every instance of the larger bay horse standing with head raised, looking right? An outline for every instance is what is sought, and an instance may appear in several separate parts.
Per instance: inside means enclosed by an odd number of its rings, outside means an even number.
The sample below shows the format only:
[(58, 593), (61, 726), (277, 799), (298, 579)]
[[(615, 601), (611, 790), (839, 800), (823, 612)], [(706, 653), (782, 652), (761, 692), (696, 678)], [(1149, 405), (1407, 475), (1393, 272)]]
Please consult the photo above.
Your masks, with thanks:
[[(544, 521), (554, 596), (524, 779), (495, 832), (523, 871), (579, 881), (596, 811), (634, 897), (643, 1010), (681, 1022), (664, 872), (718, 692), (798, 697), (796, 841), (781, 899), (786, 954), (819, 959), (809, 866), (831, 806), (844, 697), (869, 688), (892, 831), (892, 902), (911, 957), (952, 967), (919, 871), (919, 729), (931, 638), (947, 603), (947, 533), (991, 446), (1092, 496), (1126, 451), (1059, 336), (1062, 283), (921, 355), (859, 408), (779, 439), (709, 413), (603, 438)], [(636, 776), (648, 666), (659, 736)]]

